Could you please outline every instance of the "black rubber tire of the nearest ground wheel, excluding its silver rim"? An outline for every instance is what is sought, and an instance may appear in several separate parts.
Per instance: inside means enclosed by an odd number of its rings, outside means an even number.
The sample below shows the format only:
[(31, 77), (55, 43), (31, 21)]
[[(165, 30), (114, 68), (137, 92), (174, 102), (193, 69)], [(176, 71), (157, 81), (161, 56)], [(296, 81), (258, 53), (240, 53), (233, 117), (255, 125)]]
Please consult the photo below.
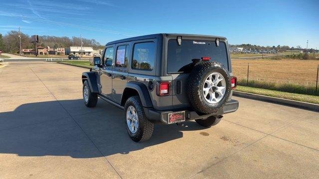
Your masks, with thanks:
[[(130, 105), (136, 109), (138, 117), (139, 117), (139, 127), (136, 133), (132, 133), (130, 131), (126, 122), (126, 112)], [(143, 141), (149, 140), (154, 131), (154, 124), (146, 118), (140, 97), (139, 96), (129, 97), (125, 103), (124, 111), (125, 111), (124, 112), (125, 126), (131, 139), (135, 142), (143, 142)]]

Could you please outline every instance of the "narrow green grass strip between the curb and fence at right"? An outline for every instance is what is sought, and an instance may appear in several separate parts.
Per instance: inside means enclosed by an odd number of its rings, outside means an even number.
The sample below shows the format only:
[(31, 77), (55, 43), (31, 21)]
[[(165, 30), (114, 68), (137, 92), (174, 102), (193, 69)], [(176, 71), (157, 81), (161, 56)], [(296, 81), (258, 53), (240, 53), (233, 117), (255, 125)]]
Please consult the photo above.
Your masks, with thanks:
[(270, 90), (270, 89), (258, 89), (258, 88), (243, 87), (243, 86), (237, 86), (235, 90), (319, 104), (319, 96), (314, 96), (314, 95), (297, 94), (297, 93), (291, 93), (291, 92), (283, 92), (283, 91)]

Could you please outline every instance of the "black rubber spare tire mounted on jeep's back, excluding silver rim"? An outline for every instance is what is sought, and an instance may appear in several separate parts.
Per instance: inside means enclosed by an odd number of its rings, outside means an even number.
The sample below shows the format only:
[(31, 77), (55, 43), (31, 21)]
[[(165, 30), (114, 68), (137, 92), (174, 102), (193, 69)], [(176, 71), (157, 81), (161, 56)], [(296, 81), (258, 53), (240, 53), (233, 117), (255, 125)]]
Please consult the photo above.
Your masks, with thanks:
[[(215, 103), (208, 103), (202, 93), (203, 84), (213, 72), (220, 73), (226, 82), (226, 89), (223, 98)], [(201, 62), (195, 65), (194, 69), (190, 73), (188, 83), (188, 99), (195, 111), (210, 114), (215, 113), (223, 108), (226, 104), (231, 92), (230, 74), (225, 69), (224, 65), (218, 62)]]

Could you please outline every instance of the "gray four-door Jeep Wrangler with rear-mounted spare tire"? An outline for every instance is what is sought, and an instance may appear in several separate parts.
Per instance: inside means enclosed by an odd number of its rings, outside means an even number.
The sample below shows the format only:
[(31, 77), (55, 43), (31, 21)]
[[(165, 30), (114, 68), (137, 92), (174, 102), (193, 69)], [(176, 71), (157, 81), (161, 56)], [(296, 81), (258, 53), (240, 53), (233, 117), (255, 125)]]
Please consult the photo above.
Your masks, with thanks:
[(216, 125), (234, 112), (227, 39), (188, 34), (153, 34), (106, 44), (102, 58), (82, 74), (88, 107), (98, 97), (124, 110), (132, 140), (150, 139), (154, 124), (195, 120)]

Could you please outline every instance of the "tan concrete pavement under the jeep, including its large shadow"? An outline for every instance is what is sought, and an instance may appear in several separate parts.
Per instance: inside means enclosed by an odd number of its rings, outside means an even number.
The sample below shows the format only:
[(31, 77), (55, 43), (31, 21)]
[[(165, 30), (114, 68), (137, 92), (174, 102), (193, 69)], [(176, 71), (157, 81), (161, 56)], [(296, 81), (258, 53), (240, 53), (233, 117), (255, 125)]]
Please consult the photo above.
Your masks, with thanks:
[(82, 101), (86, 69), (9, 62), (0, 69), (0, 179), (256, 179), (319, 176), (319, 113), (234, 97), (211, 128), (156, 125), (135, 143), (123, 111)]

